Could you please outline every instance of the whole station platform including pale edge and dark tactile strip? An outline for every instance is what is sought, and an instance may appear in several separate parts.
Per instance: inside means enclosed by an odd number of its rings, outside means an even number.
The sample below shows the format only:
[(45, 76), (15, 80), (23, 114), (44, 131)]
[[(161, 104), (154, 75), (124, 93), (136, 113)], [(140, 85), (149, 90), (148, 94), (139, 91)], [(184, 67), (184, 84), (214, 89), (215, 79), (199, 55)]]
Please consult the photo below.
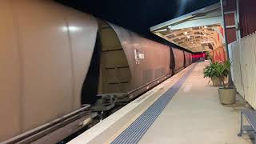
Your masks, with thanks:
[(237, 135), (243, 102), (222, 106), (205, 66), (194, 63), (70, 143), (251, 143)]

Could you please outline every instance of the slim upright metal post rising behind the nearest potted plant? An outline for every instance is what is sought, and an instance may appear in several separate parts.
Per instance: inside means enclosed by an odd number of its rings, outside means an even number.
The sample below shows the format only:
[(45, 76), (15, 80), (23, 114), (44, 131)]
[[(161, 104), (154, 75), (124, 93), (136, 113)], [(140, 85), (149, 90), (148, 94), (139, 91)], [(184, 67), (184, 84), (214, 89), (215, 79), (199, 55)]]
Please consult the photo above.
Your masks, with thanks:
[[(225, 20), (225, 13), (224, 13), (224, 8), (223, 8), (223, 0), (221, 1), (221, 7), (222, 7), (222, 20), (223, 20), (223, 28), (224, 28), (224, 39), (225, 39), (225, 46), (226, 46), (226, 55), (227, 55), (227, 60), (230, 60), (230, 53), (229, 53), (229, 46), (228, 46), (228, 42), (227, 42), (227, 34), (226, 34), (226, 20)], [(234, 83), (232, 82), (232, 77), (231, 77), (231, 73), (228, 75), (229, 78), (229, 82), (228, 82), (228, 86), (234, 86)]]

